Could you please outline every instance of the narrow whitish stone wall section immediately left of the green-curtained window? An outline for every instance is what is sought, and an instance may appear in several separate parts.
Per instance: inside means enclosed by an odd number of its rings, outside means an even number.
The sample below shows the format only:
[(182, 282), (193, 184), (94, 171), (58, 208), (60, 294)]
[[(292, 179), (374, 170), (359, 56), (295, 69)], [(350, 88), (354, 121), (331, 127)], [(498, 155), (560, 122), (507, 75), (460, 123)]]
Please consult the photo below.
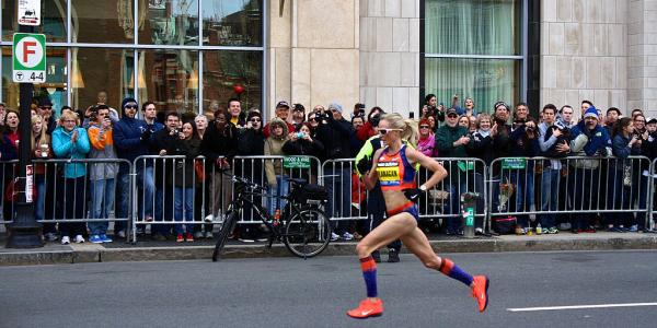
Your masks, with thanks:
[(419, 1), (360, 0), (360, 101), (417, 115)]

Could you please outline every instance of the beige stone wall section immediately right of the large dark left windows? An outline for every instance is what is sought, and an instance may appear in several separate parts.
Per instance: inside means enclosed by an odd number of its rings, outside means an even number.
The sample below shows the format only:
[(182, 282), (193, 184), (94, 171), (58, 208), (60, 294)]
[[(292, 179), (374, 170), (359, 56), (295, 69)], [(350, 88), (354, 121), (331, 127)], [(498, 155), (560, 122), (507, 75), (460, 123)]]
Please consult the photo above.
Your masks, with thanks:
[(358, 0), (286, 0), (269, 3), (267, 109), (276, 102), (359, 101)]

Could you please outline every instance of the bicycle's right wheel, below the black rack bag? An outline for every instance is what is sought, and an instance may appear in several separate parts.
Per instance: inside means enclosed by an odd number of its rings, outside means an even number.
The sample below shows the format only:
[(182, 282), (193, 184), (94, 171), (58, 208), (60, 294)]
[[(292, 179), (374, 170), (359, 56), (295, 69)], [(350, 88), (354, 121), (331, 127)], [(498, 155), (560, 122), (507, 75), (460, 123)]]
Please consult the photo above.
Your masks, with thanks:
[(324, 212), (304, 208), (288, 220), (283, 243), (298, 257), (313, 257), (326, 249), (331, 232), (331, 221)]

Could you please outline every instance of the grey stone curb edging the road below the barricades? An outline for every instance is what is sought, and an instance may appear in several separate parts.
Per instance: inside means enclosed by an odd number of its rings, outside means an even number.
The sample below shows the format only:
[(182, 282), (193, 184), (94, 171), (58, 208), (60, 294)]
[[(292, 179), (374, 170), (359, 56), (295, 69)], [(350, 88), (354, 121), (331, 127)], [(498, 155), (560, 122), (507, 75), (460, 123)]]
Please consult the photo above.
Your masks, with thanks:
[[(475, 239), (430, 241), (431, 247), (441, 253), (502, 253), (502, 251), (572, 251), (572, 250), (619, 250), (657, 249), (657, 236), (625, 235), (623, 237), (494, 237)], [(46, 246), (47, 248), (48, 246)], [(158, 261), (158, 260), (209, 260), (214, 246), (164, 246), (105, 248), (69, 247), (65, 250), (48, 249), (0, 249), (0, 266), (61, 265), (110, 261)], [(321, 256), (354, 255), (356, 243), (333, 243)], [(382, 253), (387, 250), (383, 249)], [(408, 250), (402, 248), (402, 253)], [(227, 245), (222, 258), (291, 257), (281, 244), (270, 249), (263, 245)]]

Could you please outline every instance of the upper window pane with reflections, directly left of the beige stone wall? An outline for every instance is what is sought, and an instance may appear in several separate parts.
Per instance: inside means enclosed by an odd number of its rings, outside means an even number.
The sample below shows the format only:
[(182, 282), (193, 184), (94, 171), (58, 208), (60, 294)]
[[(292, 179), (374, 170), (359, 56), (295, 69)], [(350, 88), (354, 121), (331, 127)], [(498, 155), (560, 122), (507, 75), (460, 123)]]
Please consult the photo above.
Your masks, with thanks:
[(261, 46), (262, 1), (204, 1), (203, 44)]

